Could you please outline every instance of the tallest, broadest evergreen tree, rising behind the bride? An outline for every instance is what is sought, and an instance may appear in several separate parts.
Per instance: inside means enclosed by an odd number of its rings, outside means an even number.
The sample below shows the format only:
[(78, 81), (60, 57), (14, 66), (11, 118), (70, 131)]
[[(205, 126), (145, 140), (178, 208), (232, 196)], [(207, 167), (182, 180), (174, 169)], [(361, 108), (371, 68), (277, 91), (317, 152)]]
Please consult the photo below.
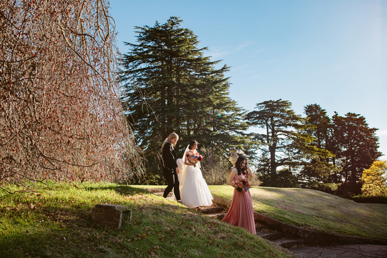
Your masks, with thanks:
[(229, 148), (251, 153), (244, 110), (229, 97), (224, 75), (229, 67), (216, 69), (220, 61), (204, 56), (207, 48), (198, 48), (198, 37), (181, 22), (171, 17), (164, 24), (135, 27), (137, 44), (126, 43), (130, 50), (121, 60), (122, 104), (137, 143), (154, 154), (176, 132), (180, 152), (196, 139), (219, 154)]

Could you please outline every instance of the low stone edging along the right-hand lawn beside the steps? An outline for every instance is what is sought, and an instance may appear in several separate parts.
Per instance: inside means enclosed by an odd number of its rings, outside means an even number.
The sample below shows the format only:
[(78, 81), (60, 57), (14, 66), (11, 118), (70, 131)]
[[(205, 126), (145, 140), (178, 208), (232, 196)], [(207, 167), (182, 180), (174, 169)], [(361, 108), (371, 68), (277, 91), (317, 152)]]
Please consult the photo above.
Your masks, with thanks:
[[(230, 208), (231, 201), (222, 197), (219, 197), (215, 194), (212, 194), (214, 197), (214, 203), (218, 205), (225, 206)], [(254, 212), (254, 219), (260, 223), (268, 225), (273, 230), (278, 230), (284, 233), (291, 235), (296, 235), (301, 238), (305, 238), (317, 242), (334, 242), (336, 244), (372, 244), (372, 245), (387, 245), (386, 240), (380, 239), (371, 239), (371, 238), (360, 238), (360, 237), (351, 237), (343, 236), (330, 233), (322, 233), (311, 230), (306, 230), (304, 228), (290, 225), (288, 223), (282, 222), (280, 220), (268, 217), (266, 215)]]

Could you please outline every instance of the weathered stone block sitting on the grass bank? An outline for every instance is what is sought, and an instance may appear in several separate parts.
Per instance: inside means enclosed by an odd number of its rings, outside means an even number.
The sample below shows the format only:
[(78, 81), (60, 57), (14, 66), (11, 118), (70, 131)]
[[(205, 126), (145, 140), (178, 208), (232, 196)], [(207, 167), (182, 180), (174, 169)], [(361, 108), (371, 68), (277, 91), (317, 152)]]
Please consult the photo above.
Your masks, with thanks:
[(113, 204), (97, 204), (91, 213), (92, 219), (97, 224), (120, 228), (122, 223), (122, 213), (126, 211), (126, 206)]

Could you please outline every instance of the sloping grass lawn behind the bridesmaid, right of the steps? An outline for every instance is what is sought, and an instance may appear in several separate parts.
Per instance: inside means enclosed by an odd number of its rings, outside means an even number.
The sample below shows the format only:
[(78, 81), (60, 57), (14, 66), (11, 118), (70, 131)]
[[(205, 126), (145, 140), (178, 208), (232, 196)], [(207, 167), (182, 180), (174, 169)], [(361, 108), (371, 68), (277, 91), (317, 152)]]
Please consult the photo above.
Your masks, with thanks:
[[(231, 200), (231, 186), (209, 186)], [(310, 189), (253, 187), (254, 210), (319, 232), (387, 240), (387, 205), (359, 204)]]

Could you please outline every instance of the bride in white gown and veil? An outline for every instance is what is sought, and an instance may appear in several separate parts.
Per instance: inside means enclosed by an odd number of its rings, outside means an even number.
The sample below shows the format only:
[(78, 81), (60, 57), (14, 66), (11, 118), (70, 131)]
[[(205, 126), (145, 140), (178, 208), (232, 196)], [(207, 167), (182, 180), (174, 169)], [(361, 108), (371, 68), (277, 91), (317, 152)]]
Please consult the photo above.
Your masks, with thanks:
[(211, 206), (213, 199), (206, 181), (203, 179), (200, 162), (192, 163), (188, 158), (198, 154), (197, 148), (198, 142), (191, 140), (185, 149), (183, 159), (177, 159), (176, 161), (180, 170), (178, 176), (181, 202), (189, 208)]

